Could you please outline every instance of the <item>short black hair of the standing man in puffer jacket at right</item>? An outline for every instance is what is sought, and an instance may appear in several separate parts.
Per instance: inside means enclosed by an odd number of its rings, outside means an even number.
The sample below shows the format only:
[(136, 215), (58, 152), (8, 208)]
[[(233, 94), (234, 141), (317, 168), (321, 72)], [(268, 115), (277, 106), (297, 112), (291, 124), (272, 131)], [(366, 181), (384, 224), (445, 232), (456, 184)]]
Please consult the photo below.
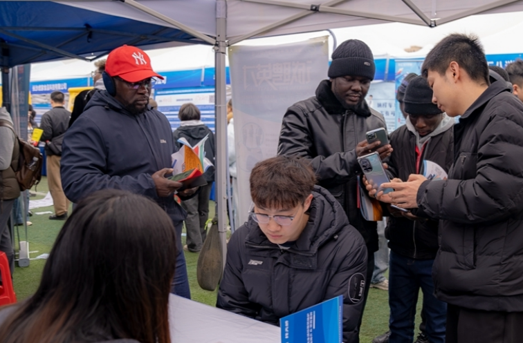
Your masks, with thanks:
[(488, 63), (479, 38), (475, 35), (453, 33), (441, 39), (425, 57), (421, 66), (421, 75), (428, 77), (428, 71), (433, 70), (439, 75), (445, 75), (450, 62), (455, 61), (463, 68), (470, 79), (479, 83), (488, 79)]

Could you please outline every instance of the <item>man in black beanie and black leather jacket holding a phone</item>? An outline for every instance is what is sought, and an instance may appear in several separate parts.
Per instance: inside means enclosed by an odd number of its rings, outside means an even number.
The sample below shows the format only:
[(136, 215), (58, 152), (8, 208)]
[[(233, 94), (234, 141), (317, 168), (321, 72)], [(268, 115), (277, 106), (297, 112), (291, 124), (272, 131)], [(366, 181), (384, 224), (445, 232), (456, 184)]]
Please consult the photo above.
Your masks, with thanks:
[[(368, 259), (364, 302), (374, 271), (378, 233), (376, 222), (367, 222), (358, 208), (357, 176), (361, 170), (357, 158), (373, 152), (380, 144), (367, 144), (365, 133), (386, 128), (383, 116), (365, 102), (375, 70), (367, 44), (357, 39), (341, 43), (332, 54), (329, 79), (320, 83), (315, 97), (288, 108), (278, 146), (278, 155), (311, 160), (320, 186), (336, 197), (349, 223), (365, 239)], [(376, 151), (385, 159), (392, 148), (387, 144)]]

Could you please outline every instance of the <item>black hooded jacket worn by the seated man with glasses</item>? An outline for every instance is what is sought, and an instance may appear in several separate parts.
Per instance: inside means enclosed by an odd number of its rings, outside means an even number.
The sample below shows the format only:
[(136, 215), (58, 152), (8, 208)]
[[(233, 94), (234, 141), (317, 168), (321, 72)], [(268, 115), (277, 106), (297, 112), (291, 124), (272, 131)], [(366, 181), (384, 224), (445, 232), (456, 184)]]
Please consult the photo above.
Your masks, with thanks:
[(367, 248), (327, 190), (316, 186), (313, 196), (309, 222), (288, 250), (270, 243), (253, 219), (232, 235), (217, 307), (279, 324), (343, 295), (343, 341), (358, 342)]

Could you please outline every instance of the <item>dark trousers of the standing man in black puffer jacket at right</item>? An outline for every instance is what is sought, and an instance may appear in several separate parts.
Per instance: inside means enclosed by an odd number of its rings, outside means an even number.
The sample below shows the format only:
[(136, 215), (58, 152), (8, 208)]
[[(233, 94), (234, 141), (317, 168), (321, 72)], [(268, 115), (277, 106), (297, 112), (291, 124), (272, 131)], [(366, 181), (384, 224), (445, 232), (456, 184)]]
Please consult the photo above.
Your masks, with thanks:
[(447, 343), (520, 343), (522, 337), (523, 312), (479, 311), (448, 304)]

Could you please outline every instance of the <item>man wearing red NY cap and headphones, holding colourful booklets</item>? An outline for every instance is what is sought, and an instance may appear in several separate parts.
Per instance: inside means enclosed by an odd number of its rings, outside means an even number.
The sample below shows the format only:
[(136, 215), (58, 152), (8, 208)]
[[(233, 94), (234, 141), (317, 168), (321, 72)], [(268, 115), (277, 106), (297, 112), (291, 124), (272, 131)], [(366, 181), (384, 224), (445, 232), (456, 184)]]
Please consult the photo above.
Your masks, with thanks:
[[(149, 56), (134, 46), (111, 51), (102, 77), (106, 90), (95, 92), (64, 137), (64, 192), (73, 202), (105, 188), (154, 199), (172, 218), (178, 235), (173, 293), (190, 298), (181, 247), (187, 213), (173, 197), (182, 184), (165, 177), (172, 173), (171, 154), (176, 148), (169, 121), (149, 106), (154, 77), (163, 77), (152, 70)], [(192, 194), (194, 189), (178, 192), (182, 199)]]

